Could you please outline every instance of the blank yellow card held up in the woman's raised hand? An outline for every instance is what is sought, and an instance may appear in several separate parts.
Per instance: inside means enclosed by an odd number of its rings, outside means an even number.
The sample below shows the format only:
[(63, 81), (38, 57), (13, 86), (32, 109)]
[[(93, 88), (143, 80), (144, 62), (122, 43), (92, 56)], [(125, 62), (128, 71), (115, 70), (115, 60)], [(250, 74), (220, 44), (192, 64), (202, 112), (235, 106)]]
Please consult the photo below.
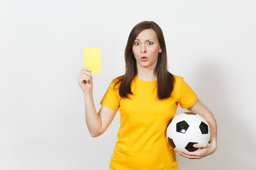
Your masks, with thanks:
[(91, 69), (91, 73), (101, 73), (101, 48), (84, 49), (84, 66)]

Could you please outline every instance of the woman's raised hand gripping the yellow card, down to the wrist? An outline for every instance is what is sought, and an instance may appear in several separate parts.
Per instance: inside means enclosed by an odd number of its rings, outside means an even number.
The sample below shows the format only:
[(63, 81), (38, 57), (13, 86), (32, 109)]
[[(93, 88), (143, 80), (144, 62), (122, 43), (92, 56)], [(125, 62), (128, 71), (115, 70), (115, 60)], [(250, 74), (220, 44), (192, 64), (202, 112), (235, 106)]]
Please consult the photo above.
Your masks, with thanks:
[(90, 68), (82, 67), (80, 75), (77, 77), (77, 82), (83, 93), (92, 93), (92, 72)]

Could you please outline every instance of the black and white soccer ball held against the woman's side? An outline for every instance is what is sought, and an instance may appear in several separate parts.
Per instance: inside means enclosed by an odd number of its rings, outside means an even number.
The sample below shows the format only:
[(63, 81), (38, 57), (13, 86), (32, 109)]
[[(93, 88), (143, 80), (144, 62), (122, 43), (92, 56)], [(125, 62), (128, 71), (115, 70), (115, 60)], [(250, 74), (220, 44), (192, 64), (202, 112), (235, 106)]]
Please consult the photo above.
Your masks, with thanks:
[(187, 150), (193, 152), (193, 144), (209, 143), (210, 128), (207, 121), (196, 113), (185, 112), (171, 119), (166, 136), (170, 146), (177, 152)]

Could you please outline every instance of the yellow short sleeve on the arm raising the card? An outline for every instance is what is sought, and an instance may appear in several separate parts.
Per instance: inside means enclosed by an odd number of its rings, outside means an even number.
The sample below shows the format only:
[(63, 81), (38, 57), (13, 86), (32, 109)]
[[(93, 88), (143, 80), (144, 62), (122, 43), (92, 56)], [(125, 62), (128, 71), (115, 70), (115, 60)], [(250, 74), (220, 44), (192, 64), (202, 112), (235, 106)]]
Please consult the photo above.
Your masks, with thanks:
[[(120, 97), (119, 97), (119, 89), (117, 88), (117, 86), (115, 86), (116, 82), (117, 82), (116, 79), (112, 80), (100, 104), (117, 111), (120, 105)], [(114, 86), (115, 86), (115, 90), (114, 90)]]

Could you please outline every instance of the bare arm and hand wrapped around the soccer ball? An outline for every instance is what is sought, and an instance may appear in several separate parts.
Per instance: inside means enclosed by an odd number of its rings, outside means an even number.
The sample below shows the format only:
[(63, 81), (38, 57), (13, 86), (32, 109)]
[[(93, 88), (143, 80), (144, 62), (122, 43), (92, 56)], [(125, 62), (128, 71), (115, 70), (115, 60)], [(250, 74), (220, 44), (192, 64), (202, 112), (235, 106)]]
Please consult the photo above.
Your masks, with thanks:
[(213, 113), (199, 100), (189, 108), (189, 111), (193, 113), (197, 113), (202, 116), (210, 126), (211, 130), (211, 138), (210, 144), (195, 144), (195, 148), (201, 148), (201, 150), (197, 150), (195, 152), (179, 152), (180, 155), (187, 157), (189, 159), (201, 159), (207, 155), (211, 155), (217, 149), (217, 123), (216, 119), (213, 116)]

